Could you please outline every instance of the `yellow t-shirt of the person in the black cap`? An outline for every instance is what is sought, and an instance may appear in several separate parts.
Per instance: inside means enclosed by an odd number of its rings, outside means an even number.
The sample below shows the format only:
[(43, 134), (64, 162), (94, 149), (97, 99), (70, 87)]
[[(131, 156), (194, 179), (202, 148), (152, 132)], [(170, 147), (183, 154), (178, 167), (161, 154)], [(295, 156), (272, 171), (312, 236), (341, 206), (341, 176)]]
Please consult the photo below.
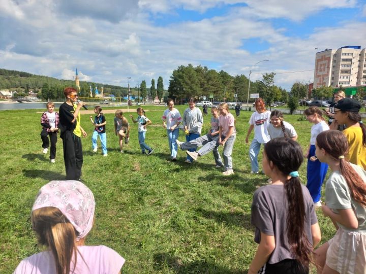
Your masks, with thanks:
[(351, 126), (342, 131), (347, 138), (349, 152), (346, 158), (366, 170), (366, 147), (362, 144), (362, 129)]

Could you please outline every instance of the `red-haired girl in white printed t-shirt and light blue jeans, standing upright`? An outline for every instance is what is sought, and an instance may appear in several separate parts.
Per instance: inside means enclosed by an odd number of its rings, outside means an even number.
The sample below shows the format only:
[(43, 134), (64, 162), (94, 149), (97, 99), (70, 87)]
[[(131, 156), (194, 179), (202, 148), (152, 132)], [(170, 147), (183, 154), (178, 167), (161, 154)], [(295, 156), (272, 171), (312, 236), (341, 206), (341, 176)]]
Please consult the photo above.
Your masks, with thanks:
[(247, 133), (246, 143), (249, 143), (249, 135), (254, 128), (254, 138), (249, 148), (249, 158), (251, 160), (252, 172), (259, 172), (258, 154), (261, 144), (265, 144), (270, 140), (267, 127), (269, 125), (270, 111), (266, 111), (262, 98), (256, 99), (256, 112), (254, 112), (249, 120), (249, 129)]

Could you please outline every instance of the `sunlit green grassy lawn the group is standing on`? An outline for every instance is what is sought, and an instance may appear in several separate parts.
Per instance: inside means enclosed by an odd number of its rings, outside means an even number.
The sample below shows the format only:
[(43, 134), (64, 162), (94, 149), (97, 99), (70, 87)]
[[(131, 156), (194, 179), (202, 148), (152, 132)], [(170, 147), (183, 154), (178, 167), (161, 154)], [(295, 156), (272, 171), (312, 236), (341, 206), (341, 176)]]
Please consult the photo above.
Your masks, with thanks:
[[(181, 114), (186, 107), (178, 106)], [(124, 273), (246, 273), (257, 248), (250, 223), (252, 196), (268, 179), (250, 174), (245, 136), (251, 112), (242, 111), (236, 120), (235, 175), (227, 178), (215, 168), (212, 154), (189, 165), (184, 162), (186, 153), (179, 151), (177, 162), (168, 161), (161, 122), (165, 108), (145, 109), (154, 123), (146, 134), (146, 143), (155, 149), (150, 156), (140, 154), (136, 124), (131, 125), (125, 154), (119, 152), (113, 114), (106, 114), (108, 157), (100, 149), (93, 153), (94, 127), (89, 115), (82, 115), (81, 125), (88, 133), (82, 140), (82, 181), (97, 202), (87, 244), (116, 250), (126, 258)], [(65, 179), (62, 140), (58, 138), (55, 164), (42, 154), (38, 111), (0, 112), (0, 273), (12, 272), (21, 259), (41, 250), (29, 221), (32, 204), (42, 185)], [(295, 127), (306, 151), (311, 124), (298, 117), (286, 115), (285, 120)], [(209, 121), (205, 116), (205, 129)], [(184, 139), (180, 133), (179, 140)], [(306, 162), (299, 171), (306, 183)], [(321, 210), (317, 214), (323, 243), (335, 230)]]

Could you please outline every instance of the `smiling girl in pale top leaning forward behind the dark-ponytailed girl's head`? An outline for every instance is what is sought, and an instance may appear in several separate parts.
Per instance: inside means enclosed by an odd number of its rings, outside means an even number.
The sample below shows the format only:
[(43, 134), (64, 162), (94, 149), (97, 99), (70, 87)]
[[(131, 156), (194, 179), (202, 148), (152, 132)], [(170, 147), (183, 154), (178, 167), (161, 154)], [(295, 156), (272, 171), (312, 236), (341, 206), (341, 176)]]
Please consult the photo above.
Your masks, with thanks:
[(291, 138), (293, 141), (297, 140), (297, 133), (294, 127), (284, 121), (283, 114), (279, 110), (274, 110), (270, 115), (270, 124), (267, 126), (270, 139), (285, 137)]

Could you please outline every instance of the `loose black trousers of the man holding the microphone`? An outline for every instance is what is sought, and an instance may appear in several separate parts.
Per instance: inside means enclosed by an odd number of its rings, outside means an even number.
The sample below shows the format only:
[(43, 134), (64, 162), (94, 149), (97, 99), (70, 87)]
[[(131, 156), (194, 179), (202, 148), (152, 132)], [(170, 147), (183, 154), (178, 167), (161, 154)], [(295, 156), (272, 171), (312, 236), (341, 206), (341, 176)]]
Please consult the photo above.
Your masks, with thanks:
[(65, 131), (62, 136), (66, 180), (79, 180), (83, 163), (81, 138), (72, 131)]

